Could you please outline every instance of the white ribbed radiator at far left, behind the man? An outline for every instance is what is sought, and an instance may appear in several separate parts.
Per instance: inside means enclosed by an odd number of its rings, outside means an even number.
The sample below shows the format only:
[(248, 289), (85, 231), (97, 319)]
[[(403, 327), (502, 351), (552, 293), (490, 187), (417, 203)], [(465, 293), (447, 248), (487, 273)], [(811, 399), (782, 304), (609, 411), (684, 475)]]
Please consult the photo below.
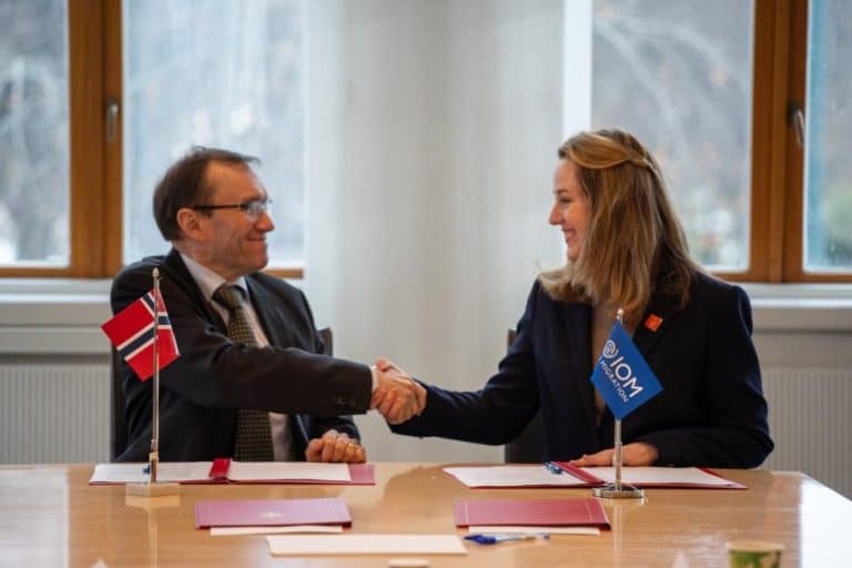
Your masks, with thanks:
[(109, 462), (105, 364), (0, 364), (0, 464)]

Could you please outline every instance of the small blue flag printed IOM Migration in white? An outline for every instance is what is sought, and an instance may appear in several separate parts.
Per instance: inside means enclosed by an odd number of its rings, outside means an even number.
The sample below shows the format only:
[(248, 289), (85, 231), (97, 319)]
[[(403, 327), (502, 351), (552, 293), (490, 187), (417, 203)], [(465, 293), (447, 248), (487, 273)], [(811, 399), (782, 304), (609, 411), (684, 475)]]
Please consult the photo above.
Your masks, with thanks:
[(619, 322), (612, 326), (604, 345), (591, 382), (619, 420), (662, 390), (653, 371)]

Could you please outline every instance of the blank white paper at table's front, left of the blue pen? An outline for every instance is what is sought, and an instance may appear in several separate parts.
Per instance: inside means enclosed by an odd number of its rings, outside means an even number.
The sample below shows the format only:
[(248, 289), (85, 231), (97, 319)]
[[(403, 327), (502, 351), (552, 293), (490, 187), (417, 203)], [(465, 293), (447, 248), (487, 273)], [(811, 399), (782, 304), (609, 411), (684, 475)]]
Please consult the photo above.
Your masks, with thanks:
[(273, 556), (467, 554), (457, 535), (282, 535), (266, 541)]

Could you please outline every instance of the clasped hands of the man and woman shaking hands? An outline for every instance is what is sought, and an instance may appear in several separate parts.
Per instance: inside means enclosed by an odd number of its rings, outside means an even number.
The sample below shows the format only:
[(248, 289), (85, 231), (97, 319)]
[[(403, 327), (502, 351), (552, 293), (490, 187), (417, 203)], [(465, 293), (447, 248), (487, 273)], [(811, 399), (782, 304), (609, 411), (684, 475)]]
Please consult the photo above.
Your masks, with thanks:
[(412, 416), (419, 416), (426, 407), (423, 385), (384, 357), (376, 359), (376, 378), (369, 407), (382, 413), (388, 424), (400, 424)]

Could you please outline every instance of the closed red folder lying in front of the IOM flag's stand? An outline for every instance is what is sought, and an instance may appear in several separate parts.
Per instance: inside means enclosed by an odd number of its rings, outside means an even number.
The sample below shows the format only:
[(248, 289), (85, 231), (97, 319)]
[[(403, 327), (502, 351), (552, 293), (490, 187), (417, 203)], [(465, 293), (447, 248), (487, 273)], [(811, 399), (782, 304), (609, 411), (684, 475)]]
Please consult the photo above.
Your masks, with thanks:
[(511, 499), (456, 501), (456, 526), (521, 525), (609, 528), (598, 499)]

